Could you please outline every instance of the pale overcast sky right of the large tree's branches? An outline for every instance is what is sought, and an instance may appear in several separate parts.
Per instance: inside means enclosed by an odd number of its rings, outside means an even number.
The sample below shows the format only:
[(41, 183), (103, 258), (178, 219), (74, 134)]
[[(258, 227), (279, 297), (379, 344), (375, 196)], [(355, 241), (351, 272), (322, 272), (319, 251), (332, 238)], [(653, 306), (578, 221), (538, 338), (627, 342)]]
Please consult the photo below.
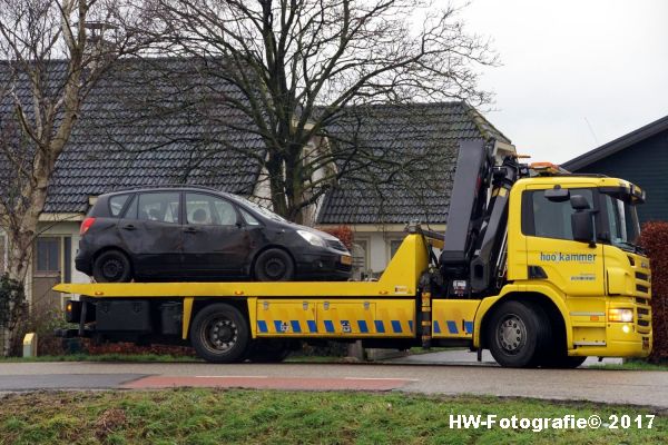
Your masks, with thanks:
[(668, 115), (668, 0), (473, 0), (502, 66), (485, 112), (531, 161), (563, 162)]

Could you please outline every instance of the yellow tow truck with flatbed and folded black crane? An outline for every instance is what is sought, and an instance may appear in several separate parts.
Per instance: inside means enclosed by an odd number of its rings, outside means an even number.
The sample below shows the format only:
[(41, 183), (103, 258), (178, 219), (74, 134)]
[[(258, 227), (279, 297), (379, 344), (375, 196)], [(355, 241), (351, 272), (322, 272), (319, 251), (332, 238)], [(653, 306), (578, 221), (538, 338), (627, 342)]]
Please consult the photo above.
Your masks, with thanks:
[[(213, 363), (279, 360), (297, 340), (468, 346), (508, 367), (651, 350), (645, 192), (460, 145), (445, 234), (409, 226), (377, 281), (60, 284), (61, 335), (189, 344)], [(436, 255), (436, 251), (440, 251)]]

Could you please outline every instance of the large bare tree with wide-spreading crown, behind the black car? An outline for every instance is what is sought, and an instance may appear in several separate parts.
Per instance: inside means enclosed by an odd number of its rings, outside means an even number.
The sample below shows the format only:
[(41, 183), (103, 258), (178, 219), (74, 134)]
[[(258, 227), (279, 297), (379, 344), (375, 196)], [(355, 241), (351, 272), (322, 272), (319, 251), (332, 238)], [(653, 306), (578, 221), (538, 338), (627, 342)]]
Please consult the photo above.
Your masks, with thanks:
[[(435, 2), (440, 4), (441, 2)], [(383, 102), (485, 103), (475, 68), (495, 63), (487, 41), (466, 34), (455, 7), (423, 0), (155, 0), (161, 50), (203, 60), (209, 99), (246, 122), (218, 122), (262, 138), (238, 142), (266, 170), (275, 211), (301, 221), (337, 179), (373, 172), (392, 180), (411, 161), (326, 129)], [(233, 93), (216, 87), (234, 85)], [(351, 123), (352, 122), (352, 123)], [(340, 128), (343, 128), (340, 127)], [(330, 136), (327, 138), (327, 136)], [(315, 145), (314, 145), (315, 142)], [(373, 167), (373, 169), (372, 169)]]

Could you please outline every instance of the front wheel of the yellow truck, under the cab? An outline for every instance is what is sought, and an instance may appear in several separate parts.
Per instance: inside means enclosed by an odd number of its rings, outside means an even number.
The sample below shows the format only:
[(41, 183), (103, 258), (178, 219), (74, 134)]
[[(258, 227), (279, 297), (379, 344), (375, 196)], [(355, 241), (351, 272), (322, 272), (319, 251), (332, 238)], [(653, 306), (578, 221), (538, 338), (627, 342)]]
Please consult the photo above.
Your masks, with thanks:
[(503, 303), (488, 325), (488, 345), (504, 367), (534, 367), (550, 344), (550, 323), (538, 305)]

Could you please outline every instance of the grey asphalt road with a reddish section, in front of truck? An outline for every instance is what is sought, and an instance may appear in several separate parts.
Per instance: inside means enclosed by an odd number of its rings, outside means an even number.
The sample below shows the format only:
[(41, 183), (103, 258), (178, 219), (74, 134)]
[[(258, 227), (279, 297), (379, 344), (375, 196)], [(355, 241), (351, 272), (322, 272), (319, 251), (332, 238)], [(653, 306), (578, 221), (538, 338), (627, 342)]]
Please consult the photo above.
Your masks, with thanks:
[(387, 364), (0, 364), (0, 393), (173, 386), (478, 394), (645, 405), (668, 411), (667, 372)]

